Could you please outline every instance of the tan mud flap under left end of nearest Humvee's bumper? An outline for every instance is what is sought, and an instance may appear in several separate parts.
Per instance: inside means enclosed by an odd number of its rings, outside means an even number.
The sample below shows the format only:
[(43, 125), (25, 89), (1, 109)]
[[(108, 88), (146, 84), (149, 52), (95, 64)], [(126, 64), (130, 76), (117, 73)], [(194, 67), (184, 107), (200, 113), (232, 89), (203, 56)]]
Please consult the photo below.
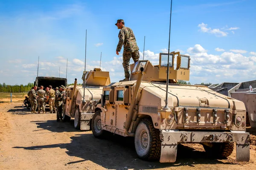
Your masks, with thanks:
[(175, 162), (177, 157), (177, 144), (161, 145), (160, 162)]

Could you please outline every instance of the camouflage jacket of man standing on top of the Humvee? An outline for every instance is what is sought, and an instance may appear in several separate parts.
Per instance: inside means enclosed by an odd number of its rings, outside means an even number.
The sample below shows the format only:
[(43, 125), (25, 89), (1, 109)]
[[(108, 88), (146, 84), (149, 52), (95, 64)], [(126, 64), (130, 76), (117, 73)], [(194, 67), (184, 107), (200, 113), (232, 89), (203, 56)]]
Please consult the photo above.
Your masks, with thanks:
[(119, 31), (118, 37), (119, 42), (116, 47), (116, 51), (120, 52), (122, 49), (122, 45), (124, 45), (125, 51), (134, 52), (139, 50), (134, 33), (131, 28), (123, 26), (122, 29)]

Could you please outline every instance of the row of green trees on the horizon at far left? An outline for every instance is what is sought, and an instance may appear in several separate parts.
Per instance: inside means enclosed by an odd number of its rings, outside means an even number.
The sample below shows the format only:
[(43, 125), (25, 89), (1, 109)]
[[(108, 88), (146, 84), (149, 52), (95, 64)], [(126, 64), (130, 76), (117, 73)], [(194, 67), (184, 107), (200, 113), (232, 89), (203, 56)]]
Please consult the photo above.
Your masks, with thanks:
[(3, 83), (3, 85), (0, 83), (0, 92), (4, 93), (22, 93), (22, 92), (28, 92), (30, 89), (34, 87), (34, 83), (29, 82), (27, 85), (6, 85)]

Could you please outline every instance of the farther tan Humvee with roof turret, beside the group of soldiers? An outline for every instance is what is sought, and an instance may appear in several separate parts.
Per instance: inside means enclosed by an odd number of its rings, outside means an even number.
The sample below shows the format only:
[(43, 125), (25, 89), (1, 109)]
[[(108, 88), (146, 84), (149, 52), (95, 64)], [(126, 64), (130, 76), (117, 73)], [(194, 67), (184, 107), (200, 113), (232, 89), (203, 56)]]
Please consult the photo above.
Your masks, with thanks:
[(86, 71), (82, 76), (83, 85), (74, 85), (66, 89), (66, 99), (63, 108), (63, 119), (65, 121), (74, 119), (74, 127), (81, 130), (90, 130), (90, 119), (94, 114), (96, 104), (101, 99), (102, 89), (110, 84), (109, 72), (94, 68)]

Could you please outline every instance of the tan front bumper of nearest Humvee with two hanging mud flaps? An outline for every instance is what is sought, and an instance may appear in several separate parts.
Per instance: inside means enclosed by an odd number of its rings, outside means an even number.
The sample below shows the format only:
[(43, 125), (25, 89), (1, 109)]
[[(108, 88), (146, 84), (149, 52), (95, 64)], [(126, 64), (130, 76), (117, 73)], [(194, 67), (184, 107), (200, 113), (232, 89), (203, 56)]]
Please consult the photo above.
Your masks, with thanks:
[(160, 130), (160, 162), (175, 162), (178, 143), (236, 142), (236, 160), (250, 160), (250, 134), (244, 131), (204, 132)]

